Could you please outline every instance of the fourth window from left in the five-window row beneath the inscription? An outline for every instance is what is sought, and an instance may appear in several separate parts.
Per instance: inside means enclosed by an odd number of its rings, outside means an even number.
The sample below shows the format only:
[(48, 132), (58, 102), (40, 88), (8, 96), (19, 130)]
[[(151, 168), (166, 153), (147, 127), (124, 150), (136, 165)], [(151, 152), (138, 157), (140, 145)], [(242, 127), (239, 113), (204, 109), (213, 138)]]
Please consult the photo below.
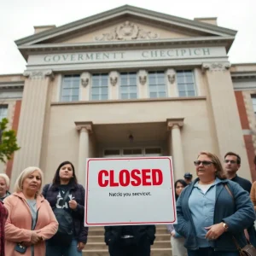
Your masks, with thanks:
[(162, 98), (167, 96), (166, 75), (163, 71), (148, 73), (148, 87), (150, 98)]

